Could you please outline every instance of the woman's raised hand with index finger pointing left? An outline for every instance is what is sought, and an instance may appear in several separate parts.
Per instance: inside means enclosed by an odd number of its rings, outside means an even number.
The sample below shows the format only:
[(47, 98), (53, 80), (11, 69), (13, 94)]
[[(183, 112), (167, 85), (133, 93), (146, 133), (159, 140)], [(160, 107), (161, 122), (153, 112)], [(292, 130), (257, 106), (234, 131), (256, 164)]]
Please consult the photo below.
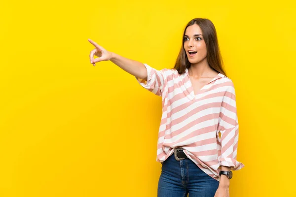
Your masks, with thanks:
[[(91, 50), (89, 54), (89, 60), (90, 60), (90, 63), (93, 64), (93, 66), (96, 66), (96, 62), (108, 61), (111, 59), (112, 57), (111, 52), (107, 51), (106, 49), (104, 49), (103, 47), (101, 47), (91, 39), (88, 39), (88, 41), (96, 47), (95, 49)], [(94, 59), (94, 55), (99, 58)]]

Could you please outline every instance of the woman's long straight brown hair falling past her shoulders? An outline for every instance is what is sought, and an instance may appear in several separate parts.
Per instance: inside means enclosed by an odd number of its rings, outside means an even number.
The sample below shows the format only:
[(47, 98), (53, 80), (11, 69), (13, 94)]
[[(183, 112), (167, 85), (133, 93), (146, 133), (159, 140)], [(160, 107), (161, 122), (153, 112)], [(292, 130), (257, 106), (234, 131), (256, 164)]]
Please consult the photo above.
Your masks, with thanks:
[(182, 47), (179, 52), (178, 58), (176, 60), (174, 69), (178, 70), (179, 74), (183, 74), (185, 72), (185, 69), (191, 66), (184, 49), (184, 41), (185, 41), (184, 36), (185, 36), (187, 27), (194, 24), (198, 25), (203, 32), (203, 37), (207, 47), (207, 60), (208, 60), (209, 66), (214, 70), (216, 70), (217, 72), (221, 72), (223, 75), (226, 76), (226, 72), (223, 69), (223, 62), (222, 62), (222, 57), (219, 49), (216, 28), (212, 23), (212, 21), (205, 18), (192, 19), (186, 25), (183, 33)]

